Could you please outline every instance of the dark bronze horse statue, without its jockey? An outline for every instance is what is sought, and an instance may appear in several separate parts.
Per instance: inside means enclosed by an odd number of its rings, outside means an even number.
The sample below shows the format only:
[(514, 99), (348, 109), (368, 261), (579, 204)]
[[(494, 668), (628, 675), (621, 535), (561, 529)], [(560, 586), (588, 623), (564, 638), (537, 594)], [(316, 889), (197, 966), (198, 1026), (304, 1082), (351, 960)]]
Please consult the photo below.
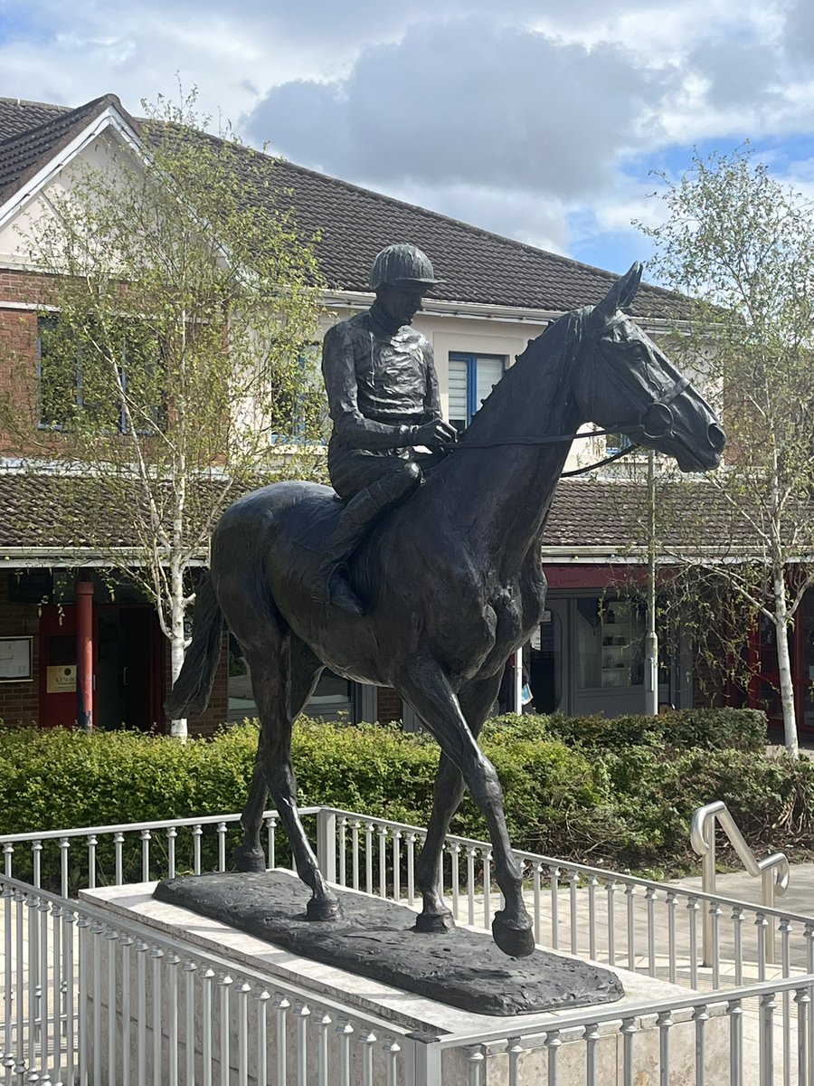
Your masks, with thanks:
[(310, 919), (338, 918), (340, 905), (297, 813), (291, 729), (328, 666), (356, 682), (393, 686), (441, 747), (416, 867), (418, 930), (449, 922), (436, 876), (466, 784), (488, 823), (504, 895), (494, 939), (507, 955), (532, 952), (503, 792), (478, 735), (505, 661), (542, 618), (540, 536), (571, 439), (593, 421), (670, 454), (684, 471), (716, 467), (725, 442), (709, 405), (622, 312), (640, 277), (634, 265), (599, 305), (567, 313), (530, 341), (454, 451), (373, 528), (349, 570), (364, 616), (310, 597), (341, 510), (330, 488), (274, 483), (240, 498), (217, 525), (211, 578), (199, 590), (192, 642), (167, 711), (182, 717), (205, 708), (226, 620), (245, 654), (260, 720), (238, 867), (265, 869), (259, 833), (270, 793), (311, 891)]

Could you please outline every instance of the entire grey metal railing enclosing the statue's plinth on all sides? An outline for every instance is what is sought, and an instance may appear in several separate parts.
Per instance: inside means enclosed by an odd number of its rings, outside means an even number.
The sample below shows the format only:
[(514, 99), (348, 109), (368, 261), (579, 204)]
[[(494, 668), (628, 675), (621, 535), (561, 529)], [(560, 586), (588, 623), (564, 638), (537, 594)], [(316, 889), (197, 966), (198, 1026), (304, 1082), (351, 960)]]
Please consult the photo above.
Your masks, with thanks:
[[(331, 881), (418, 904), (415, 861), (425, 830), (333, 808), (306, 813), (316, 815), (318, 854)], [(277, 816), (268, 811), (266, 819), (272, 866)], [(173, 843), (185, 833), (193, 870), (207, 858), (228, 867), (228, 835), (238, 821), (238, 815), (207, 816), (7, 835), (0, 843), (7, 871), (25, 858), (40, 883), (50, 870), (61, 886), (75, 882), (77, 870), (88, 884), (97, 881), (102, 845), (111, 881), (127, 881), (128, 849), (137, 861), (131, 876), (149, 881), (178, 873)], [(525, 1018), (521, 1031), (507, 1020), (415, 1034), (397, 1014), (379, 1016), (326, 997), (323, 988), (309, 989), (305, 978), (294, 983), (250, 969), (220, 947), (208, 952), (198, 942), (7, 874), (0, 876), (5, 1082), (141, 1086), (265, 1082), (268, 1075), (280, 1086), (482, 1086), (494, 1070), (513, 1086), (526, 1079), (596, 1086), (611, 1081), (610, 1059), (619, 1076), (612, 1081), (620, 1083), (675, 1077), (814, 1086), (814, 919), (551, 857), (517, 856), (539, 943), (694, 990)], [(456, 919), (488, 927), (500, 905), (488, 843), (449, 836), (438, 876)], [(711, 961), (704, 965), (708, 918)], [(780, 940), (776, 967), (772, 925)]]

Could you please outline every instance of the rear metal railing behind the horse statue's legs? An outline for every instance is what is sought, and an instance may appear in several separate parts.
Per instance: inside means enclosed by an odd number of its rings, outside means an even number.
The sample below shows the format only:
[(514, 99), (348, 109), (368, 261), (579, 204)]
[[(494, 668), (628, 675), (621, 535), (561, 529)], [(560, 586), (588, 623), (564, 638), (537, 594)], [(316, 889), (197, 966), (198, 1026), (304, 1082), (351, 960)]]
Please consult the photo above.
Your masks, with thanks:
[[(315, 830), (329, 881), (418, 902), (415, 863), (422, 828), (327, 807), (308, 807), (303, 815)], [(277, 867), (288, 851), (278, 838), (277, 813), (266, 811), (265, 819), (267, 863)], [(67, 897), (80, 886), (226, 870), (239, 820), (229, 813), (7, 834), (0, 837), (4, 873), (20, 877), (25, 868), (26, 881)], [(535, 938), (552, 949), (694, 989), (814, 972), (811, 917), (555, 857), (516, 855), (525, 869)], [(489, 927), (500, 907), (492, 874), (487, 842), (447, 837), (440, 883), (456, 921)]]

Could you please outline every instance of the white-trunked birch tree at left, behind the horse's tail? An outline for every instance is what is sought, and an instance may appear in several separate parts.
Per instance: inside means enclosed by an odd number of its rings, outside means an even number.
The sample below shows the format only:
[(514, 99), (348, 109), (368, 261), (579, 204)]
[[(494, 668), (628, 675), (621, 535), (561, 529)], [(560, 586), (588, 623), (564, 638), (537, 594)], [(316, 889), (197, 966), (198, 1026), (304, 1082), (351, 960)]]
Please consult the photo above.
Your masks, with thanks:
[(275, 189), (274, 160), (211, 134), (194, 104), (144, 104), (141, 147), (98, 148), (35, 223), (40, 379), (36, 396), (21, 393), (28, 374), (7, 401), (29, 459), (97, 477), (126, 525), (136, 559), (112, 550), (110, 565), (154, 602), (173, 682), (190, 567), (222, 509), (322, 464), (313, 239)]

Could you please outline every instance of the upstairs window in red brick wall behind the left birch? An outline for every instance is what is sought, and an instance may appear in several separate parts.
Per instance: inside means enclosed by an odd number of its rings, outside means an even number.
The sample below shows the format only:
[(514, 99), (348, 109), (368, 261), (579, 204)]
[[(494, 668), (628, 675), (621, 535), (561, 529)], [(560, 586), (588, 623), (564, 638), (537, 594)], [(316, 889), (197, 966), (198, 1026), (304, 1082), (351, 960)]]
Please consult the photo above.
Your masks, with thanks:
[(71, 430), (81, 418), (112, 433), (127, 432), (125, 402), (111, 370), (118, 361), (118, 379), (133, 426), (149, 433), (163, 424), (164, 381), (161, 351), (152, 334), (133, 323), (101, 329), (88, 323), (86, 333), (60, 321), (38, 321), (38, 425)]

